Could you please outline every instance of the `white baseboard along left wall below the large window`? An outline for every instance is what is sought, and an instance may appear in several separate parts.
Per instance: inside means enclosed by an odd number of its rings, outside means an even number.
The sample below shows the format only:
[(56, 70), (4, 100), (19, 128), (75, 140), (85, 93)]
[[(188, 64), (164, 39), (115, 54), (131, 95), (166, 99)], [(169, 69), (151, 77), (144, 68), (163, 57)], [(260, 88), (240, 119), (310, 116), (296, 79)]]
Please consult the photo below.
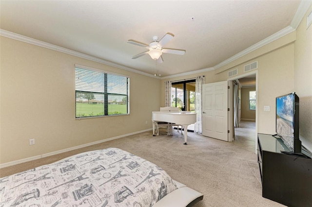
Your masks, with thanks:
[(33, 161), (33, 160), (40, 159), (40, 158), (47, 157), (47, 156), (58, 155), (60, 153), (66, 153), (66, 152), (69, 152), (69, 151), (72, 151), (72, 150), (77, 150), (77, 149), (80, 149), (80, 148), (83, 148), (83, 147), (88, 147), (88, 146), (99, 144), (99, 143), (102, 143), (102, 142), (105, 142), (105, 141), (110, 141), (110, 140), (114, 140), (114, 139), (117, 139), (117, 138), (123, 138), (123, 137), (127, 137), (127, 136), (130, 136), (130, 135), (139, 134), (139, 133), (142, 133), (142, 132), (147, 132), (147, 131), (150, 131), (150, 130), (152, 130), (152, 129), (145, 129), (145, 130), (142, 130), (142, 131), (133, 132), (133, 133), (126, 134), (126, 135), (120, 135), (120, 136), (113, 137), (113, 138), (102, 139), (102, 140), (99, 140), (99, 141), (94, 141), (94, 142), (90, 142), (90, 143), (87, 143), (87, 144), (82, 144), (82, 145), (79, 145), (79, 146), (70, 147), (70, 148), (67, 148), (67, 149), (58, 150), (58, 151), (51, 152), (51, 153), (46, 153), (46, 154), (42, 154), (42, 155), (37, 155), (37, 156), (27, 157), (27, 158), (24, 158), (24, 159), (15, 160), (15, 161), (12, 161), (12, 162), (3, 163), (3, 164), (0, 164), (0, 169), (1, 168), (6, 168), (6, 167), (10, 167), (10, 166), (13, 166), (13, 165), (17, 165), (17, 164), (21, 164), (21, 163), (24, 163), (24, 162)]

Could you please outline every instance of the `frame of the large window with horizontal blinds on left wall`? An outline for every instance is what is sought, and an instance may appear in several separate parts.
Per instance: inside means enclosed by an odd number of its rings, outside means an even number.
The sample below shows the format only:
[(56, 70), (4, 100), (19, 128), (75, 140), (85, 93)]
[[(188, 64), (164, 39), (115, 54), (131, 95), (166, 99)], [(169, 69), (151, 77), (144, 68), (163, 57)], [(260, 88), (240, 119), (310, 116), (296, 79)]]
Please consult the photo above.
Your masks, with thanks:
[[(103, 82), (103, 87), (104, 87), (104, 91), (103, 92), (96, 92), (96, 91), (90, 91), (90, 93), (98, 93), (98, 94), (102, 94), (103, 95), (103, 110), (104, 110), (104, 115), (93, 115), (93, 116), (81, 116), (81, 117), (77, 117), (77, 92), (86, 92), (88, 93), (88, 91), (82, 91), (82, 90), (78, 90), (77, 89), (77, 69), (82, 69), (82, 70), (90, 70), (90, 71), (94, 71), (94, 72), (98, 72), (98, 73), (103, 73), (104, 74), (104, 82)], [(118, 93), (111, 93), (111, 92), (107, 92), (107, 87), (110, 84), (110, 82), (106, 82), (107, 79), (105, 77), (107, 77), (107, 75), (114, 75), (114, 76), (120, 76), (120, 77), (124, 77), (127, 79), (127, 94), (125, 95), (127, 97), (127, 103), (126, 103), (126, 108), (127, 108), (127, 112), (124, 114), (108, 114), (108, 107), (110, 104), (108, 104), (108, 96), (109, 95), (118, 95)], [(106, 81), (105, 81), (106, 80)], [(106, 86), (105, 86), (106, 85)], [(124, 94), (119, 94), (119, 95), (124, 95)], [(91, 68), (91, 67), (87, 67), (87, 66), (81, 66), (78, 64), (75, 64), (75, 117), (76, 120), (81, 120), (81, 119), (94, 119), (94, 118), (102, 118), (102, 117), (116, 117), (116, 116), (128, 116), (130, 115), (130, 76), (127, 75), (123, 75), (123, 74), (119, 74), (119, 73), (114, 73), (111, 71), (106, 71), (106, 70), (102, 70), (102, 69), (95, 69), (95, 68)]]

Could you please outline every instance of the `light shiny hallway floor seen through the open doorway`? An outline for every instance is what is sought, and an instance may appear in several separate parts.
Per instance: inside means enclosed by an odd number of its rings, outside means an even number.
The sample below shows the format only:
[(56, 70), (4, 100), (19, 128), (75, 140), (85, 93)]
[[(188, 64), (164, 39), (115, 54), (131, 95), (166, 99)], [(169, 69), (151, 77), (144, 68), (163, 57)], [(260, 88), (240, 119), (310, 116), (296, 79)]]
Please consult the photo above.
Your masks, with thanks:
[(255, 152), (255, 121), (242, 120), (239, 127), (234, 128), (234, 144), (245, 148), (250, 152)]

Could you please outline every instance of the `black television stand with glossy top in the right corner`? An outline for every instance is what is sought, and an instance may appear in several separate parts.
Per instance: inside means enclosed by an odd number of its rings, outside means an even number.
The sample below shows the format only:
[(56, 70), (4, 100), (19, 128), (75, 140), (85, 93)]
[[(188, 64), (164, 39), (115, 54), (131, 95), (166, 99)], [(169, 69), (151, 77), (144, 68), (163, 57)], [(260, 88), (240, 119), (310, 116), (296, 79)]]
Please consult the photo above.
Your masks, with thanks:
[(258, 134), (262, 197), (288, 207), (311, 207), (312, 155), (304, 150), (300, 154), (307, 157), (290, 152), (281, 138)]

